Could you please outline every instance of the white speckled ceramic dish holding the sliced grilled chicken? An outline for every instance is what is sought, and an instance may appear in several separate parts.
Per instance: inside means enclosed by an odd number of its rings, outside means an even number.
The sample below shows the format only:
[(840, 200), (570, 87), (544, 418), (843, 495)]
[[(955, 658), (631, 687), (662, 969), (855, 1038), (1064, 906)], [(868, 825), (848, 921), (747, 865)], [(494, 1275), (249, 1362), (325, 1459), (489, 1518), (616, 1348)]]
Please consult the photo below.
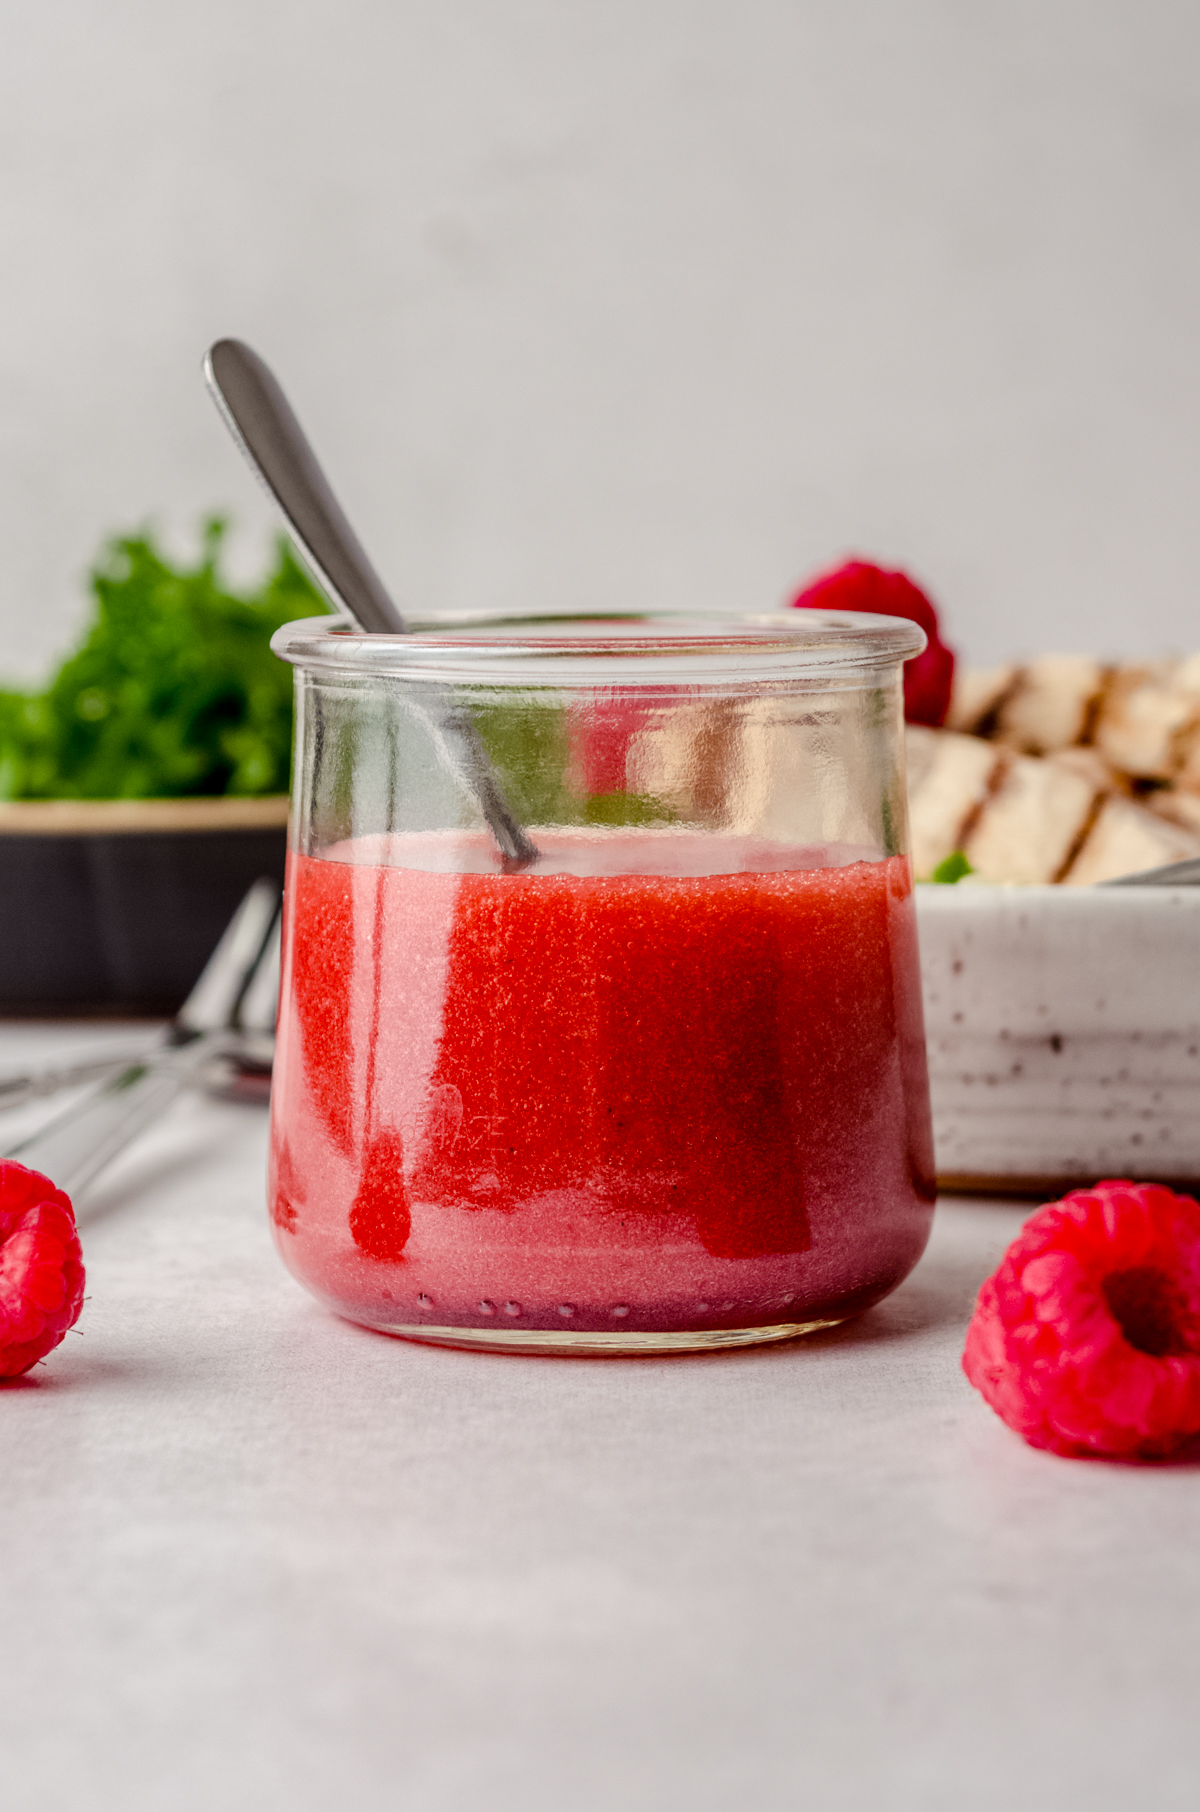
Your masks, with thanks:
[(1200, 1178), (1200, 888), (917, 888), (937, 1172)]

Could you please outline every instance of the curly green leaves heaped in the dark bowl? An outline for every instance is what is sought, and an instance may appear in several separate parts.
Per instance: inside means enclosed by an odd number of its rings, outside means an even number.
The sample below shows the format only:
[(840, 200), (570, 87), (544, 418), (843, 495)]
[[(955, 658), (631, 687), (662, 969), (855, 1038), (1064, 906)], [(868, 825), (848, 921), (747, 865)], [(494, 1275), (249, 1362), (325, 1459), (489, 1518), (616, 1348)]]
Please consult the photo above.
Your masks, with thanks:
[(192, 567), (149, 533), (103, 547), (82, 645), (45, 690), (0, 690), (0, 799), (288, 790), (292, 670), (268, 641), (328, 603), (283, 540), (265, 583), (236, 594), (223, 536), (210, 518)]

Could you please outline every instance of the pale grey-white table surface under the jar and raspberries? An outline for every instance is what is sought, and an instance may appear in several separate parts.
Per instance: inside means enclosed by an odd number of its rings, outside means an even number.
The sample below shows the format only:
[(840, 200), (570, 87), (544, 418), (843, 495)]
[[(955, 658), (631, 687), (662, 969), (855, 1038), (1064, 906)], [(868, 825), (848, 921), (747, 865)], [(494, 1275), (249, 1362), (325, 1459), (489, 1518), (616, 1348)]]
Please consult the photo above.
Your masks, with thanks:
[(179, 1102), (0, 1390), (5, 1812), (1200, 1803), (1200, 1462), (1035, 1453), (959, 1372), (1021, 1207), (810, 1341), (491, 1357), (312, 1303), (265, 1132)]

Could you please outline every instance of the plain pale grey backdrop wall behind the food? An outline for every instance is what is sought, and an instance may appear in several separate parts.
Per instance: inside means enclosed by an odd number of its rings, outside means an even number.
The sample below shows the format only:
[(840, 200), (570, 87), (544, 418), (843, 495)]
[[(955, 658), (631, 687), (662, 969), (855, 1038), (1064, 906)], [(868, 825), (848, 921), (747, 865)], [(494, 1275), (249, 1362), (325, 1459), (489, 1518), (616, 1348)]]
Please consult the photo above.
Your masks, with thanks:
[(982, 660), (1200, 647), (1193, 0), (0, 0), (0, 669), (266, 511), (250, 339), (401, 602), (906, 565)]

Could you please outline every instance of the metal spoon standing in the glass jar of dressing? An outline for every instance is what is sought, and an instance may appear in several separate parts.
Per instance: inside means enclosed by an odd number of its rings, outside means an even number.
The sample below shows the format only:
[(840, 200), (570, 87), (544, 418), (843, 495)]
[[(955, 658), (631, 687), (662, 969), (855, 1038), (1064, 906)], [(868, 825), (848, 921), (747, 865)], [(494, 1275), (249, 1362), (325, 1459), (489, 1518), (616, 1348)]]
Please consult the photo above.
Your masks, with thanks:
[[(323, 591), (368, 634), (402, 636), (404, 618), (350, 527), (270, 366), (243, 341), (208, 348), (205, 379), (225, 426), (250, 469), (266, 487)], [(513, 815), (479, 727), (450, 699), (440, 707), (442, 730), (459, 748), (459, 765), (497, 839), (508, 866), (526, 868), (537, 844)]]

